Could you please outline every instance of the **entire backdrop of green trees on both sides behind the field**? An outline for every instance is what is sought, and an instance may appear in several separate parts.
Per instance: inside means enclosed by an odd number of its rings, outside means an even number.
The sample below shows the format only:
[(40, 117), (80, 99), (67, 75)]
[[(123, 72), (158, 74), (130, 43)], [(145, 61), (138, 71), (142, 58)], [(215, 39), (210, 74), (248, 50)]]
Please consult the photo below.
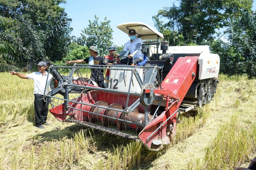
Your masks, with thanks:
[[(221, 63), (256, 62), (256, 14), (253, 0), (180, 0), (153, 16), (170, 46), (208, 45)], [(113, 45), (110, 20), (95, 15), (81, 37), (71, 36), (72, 22), (59, 4), (65, 0), (0, 0), (0, 63), (63, 62), (99, 55)], [(117, 47), (117, 46), (116, 46)], [(117, 47), (121, 52), (123, 47)]]

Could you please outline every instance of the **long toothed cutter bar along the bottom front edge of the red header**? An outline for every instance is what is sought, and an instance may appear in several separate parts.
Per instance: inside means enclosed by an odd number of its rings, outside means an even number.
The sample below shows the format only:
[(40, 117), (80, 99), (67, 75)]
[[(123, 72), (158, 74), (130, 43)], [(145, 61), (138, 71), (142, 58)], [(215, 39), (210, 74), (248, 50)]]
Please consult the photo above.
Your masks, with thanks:
[(137, 136), (134, 136), (134, 135), (131, 135), (128, 133), (124, 133), (119, 130), (110, 129), (110, 128), (103, 127), (103, 126), (100, 126), (97, 124), (93, 124), (91, 122), (84, 122), (84, 121), (78, 121), (78, 120), (72, 120), (72, 119), (67, 119), (65, 122), (77, 123), (77, 124), (83, 125), (86, 128), (93, 128), (93, 129), (96, 129), (96, 130), (99, 130), (102, 132), (107, 132), (109, 134), (116, 135), (118, 137), (125, 137), (125, 138), (131, 139), (131, 140), (140, 140)]

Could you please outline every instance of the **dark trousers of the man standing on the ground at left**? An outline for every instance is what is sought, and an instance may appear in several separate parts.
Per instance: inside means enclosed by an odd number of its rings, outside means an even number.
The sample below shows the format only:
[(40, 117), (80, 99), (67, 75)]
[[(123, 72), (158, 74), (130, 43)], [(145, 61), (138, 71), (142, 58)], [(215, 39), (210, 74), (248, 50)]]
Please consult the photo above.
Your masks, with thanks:
[(35, 106), (35, 118), (36, 118), (35, 125), (38, 127), (46, 123), (50, 99), (47, 98), (47, 100), (44, 101), (44, 96), (41, 94), (34, 94), (34, 96), (35, 96), (34, 106)]

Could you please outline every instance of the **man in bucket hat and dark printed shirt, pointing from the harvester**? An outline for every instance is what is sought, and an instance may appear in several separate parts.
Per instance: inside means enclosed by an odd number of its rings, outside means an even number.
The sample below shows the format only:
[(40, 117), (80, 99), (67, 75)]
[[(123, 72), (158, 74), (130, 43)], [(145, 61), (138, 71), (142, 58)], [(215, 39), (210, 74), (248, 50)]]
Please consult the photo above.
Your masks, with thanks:
[[(89, 58), (85, 58), (83, 60), (66, 61), (65, 63), (88, 63), (90, 65), (104, 65), (103, 57), (98, 55), (97, 47), (91, 46), (89, 48), (89, 52), (91, 55)], [(99, 87), (104, 88), (103, 69), (91, 69), (90, 79), (95, 81)]]

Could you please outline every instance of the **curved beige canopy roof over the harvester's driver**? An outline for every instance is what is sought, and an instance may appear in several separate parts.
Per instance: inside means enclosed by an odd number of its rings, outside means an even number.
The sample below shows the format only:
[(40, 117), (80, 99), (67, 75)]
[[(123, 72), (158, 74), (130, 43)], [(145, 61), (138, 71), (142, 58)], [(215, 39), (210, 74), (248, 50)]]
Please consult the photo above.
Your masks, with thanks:
[(126, 22), (126, 23), (119, 24), (117, 28), (127, 34), (129, 34), (129, 30), (134, 29), (136, 33), (140, 35), (140, 38), (142, 40), (164, 38), (164, 35), (162, 33), (159, 33), (151, 26), (148, 26), (147, 24), (142, 22)]

